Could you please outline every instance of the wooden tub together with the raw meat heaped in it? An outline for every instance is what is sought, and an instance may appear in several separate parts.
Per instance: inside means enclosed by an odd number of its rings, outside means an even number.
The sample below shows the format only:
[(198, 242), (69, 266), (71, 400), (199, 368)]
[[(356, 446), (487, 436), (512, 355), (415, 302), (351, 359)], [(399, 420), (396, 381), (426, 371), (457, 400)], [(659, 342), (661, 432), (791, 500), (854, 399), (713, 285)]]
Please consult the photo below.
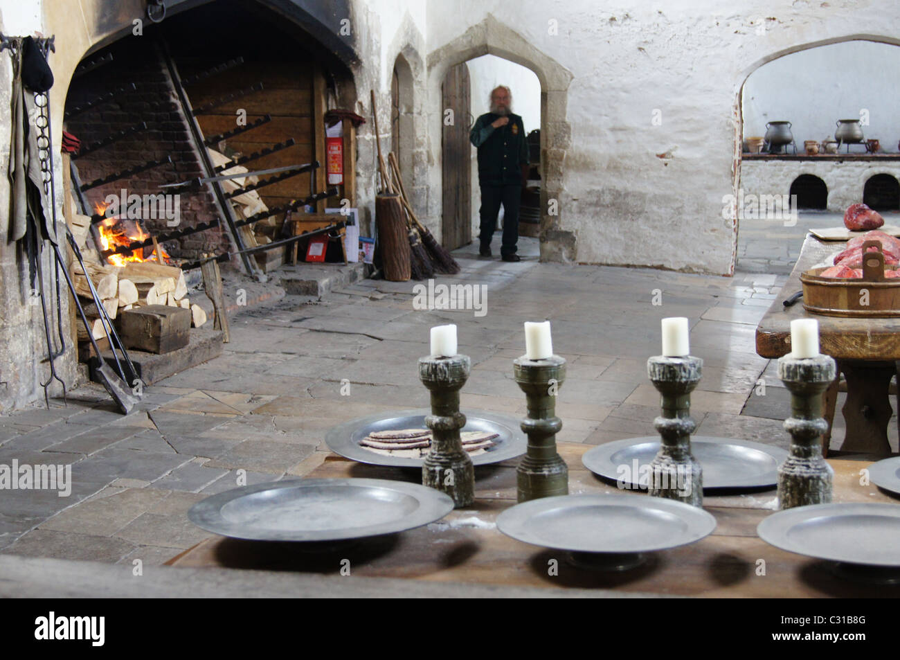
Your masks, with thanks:
[(828, 316), (900, 316), (900, 240), (867, 231), (850, 240), (834, 266), (800, 274), (807, 312)]

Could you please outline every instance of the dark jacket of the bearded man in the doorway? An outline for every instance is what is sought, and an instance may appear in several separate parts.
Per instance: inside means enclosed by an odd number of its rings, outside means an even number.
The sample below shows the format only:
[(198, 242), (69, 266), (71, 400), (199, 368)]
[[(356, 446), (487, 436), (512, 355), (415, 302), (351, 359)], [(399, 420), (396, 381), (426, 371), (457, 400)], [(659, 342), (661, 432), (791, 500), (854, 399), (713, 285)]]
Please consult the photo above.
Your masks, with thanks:
[(475, 121), (469, 140), (478, 148), (478, 180), (481, 185), (521, 185), (522, 166), (528, 164), (525, 124), (509, 113), (509, 123), (495, 129), (491, 123), (500, 114), (482, 114)]

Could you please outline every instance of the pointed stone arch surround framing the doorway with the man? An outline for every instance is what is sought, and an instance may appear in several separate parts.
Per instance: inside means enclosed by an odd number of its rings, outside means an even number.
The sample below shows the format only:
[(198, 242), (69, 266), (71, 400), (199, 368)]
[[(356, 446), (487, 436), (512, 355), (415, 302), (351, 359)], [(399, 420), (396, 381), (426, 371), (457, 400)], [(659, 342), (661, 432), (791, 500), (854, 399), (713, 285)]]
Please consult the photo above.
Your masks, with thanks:
[[(572, 143), (572, 128), (565, 121), (569, 85), (572, 82), (569, 69), (488, 14), (481, 23), (428, 54), (428, 125), (440, 125), (440, 89), (447, 70), (469, 59), (489, 54), (531, 69), (541, 83), (541, 260), (574, 260), (577, 237), (572, 231), (562, 229), (560, 215), (547, 213), (548, 200), (558, 200), (563, 193), (563, 161)], [(432, 140), (430, 153), (432, 162), (440, 164), (440, 140)], [(441, 189), (440, 165), (432, 168), (429, 180), (433, 190)], [(436, 219), (440, 218), (440, 202), (437, 195), (432, 195), (428, 203), (429, 219), (432, 224), (437, 222), (438, 231), (440, 223)], [(432, 231), (435, 231), (434, 227)]]

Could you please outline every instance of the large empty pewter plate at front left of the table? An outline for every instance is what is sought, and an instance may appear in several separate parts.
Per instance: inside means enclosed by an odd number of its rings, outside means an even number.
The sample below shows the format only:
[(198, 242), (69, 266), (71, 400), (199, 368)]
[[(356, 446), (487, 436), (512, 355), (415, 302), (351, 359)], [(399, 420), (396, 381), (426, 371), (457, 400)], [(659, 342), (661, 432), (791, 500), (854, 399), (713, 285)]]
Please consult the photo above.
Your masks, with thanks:
[(197, 502), (187, 517), (224, 537), (338, 541), (427, 525), (453, 511), (433, 488), (384, 479), (285, 479), (234, 488)]

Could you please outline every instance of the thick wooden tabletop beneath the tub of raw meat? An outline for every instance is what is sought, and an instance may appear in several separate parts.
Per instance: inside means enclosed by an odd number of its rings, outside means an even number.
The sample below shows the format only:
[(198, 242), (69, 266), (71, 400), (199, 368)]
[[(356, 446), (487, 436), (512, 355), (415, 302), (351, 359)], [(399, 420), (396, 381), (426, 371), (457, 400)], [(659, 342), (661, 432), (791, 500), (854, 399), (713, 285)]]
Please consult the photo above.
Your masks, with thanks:
[(801, 290), (801, 273), (846, 247), (844, 242), (824, 242), (806, 236), (794, 270), (756, 329), (756, 352), (761, 357), (781, 357), (789, 353), (790, 322), (806, 318), (819, 321), (822, 352), (835, 359), (900, 359), (900, 318), (854, 319), (811, 314), (804, 309), (802, 299), (788, 308), (782, 304)]

